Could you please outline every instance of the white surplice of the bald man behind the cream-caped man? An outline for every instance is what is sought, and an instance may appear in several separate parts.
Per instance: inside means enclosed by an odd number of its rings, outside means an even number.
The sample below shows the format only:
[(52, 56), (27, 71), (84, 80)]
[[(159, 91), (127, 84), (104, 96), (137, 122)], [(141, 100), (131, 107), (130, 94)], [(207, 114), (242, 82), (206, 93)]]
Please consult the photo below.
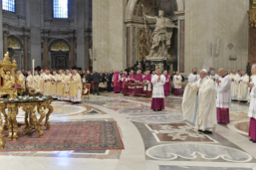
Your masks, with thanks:
[(221, 83), (217, 85), (217, 99), (216, 99), (216, 107), (217, 108), (230, 108), (231, 106), (231, 80), (229, 76), (225, 76), (224, 78), (220, 77), (219, 80)]

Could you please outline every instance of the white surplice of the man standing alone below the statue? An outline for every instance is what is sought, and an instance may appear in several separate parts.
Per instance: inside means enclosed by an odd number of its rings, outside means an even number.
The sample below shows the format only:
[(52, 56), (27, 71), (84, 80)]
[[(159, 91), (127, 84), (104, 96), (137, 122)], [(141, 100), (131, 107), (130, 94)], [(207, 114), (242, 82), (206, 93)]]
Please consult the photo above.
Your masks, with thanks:
[(164, 91), (164, 85), (165, 85), (165, 75), (161, 75), (161, 79), (159, 79), (159, 75), (152, 75), (151, 83), (153, 85), (152, 90), (152, 98), (165, 98), (165, 91)]

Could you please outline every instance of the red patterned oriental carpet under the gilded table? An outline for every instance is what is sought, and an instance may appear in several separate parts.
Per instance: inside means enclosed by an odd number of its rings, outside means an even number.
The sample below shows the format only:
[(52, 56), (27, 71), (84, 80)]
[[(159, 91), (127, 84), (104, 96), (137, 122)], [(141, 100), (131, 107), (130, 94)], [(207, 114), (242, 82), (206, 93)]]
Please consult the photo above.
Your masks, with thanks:
[[(21, 131), (20, 127), (18, 131)], [(115, 121), (51, 122), (51, 130), (43, 127), (43, 138), (35, 130), (8, 141), (3, 152), (108, 150), (124, 149)]]

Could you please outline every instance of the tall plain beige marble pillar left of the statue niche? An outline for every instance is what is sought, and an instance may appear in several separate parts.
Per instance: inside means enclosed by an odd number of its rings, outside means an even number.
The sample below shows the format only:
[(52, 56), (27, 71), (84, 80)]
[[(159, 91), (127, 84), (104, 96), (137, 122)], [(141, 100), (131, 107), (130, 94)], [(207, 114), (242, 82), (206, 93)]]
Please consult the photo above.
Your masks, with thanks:
[(124, 0), (92, 1), (93, 68), (123, 70), (126, 66)]

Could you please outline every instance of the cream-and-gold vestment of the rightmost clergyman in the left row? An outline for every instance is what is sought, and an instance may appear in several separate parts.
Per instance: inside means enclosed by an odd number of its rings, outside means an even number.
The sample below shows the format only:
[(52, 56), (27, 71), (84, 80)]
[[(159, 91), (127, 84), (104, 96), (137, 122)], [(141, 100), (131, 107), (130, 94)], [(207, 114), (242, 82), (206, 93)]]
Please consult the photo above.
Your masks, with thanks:
[(72, 76), (71, 86), (71, 102), (81, 102), (82, 80), (78, 73)]

